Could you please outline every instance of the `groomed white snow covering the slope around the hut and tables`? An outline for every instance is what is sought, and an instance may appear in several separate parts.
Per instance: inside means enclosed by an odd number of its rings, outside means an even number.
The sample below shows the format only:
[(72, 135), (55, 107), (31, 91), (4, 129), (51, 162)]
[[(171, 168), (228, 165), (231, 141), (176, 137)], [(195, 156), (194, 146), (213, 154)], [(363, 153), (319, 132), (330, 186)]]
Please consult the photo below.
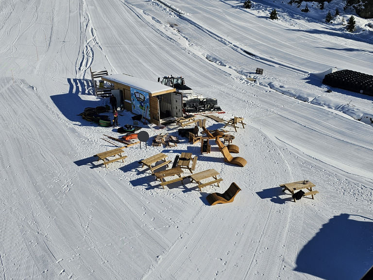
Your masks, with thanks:
[[(242, 4), (0, 0), (1, 279), (359, 280), (373, 265), (373, 98), (319, 75), (372, 75), (373, 21), (343, 11), (345, 1), (309, 2), (308, 14), (279, 0)], [(353, 34), (342, 26), (351, 14)], [(181, 137), (99, 165), (93, 155), (116, 148), (104, 134), (121, 135), (78, 116), (108, 104), (94, 96), (90, 68), (182, 75), (218, 99), (219, 117), (244, 118), (231, 133), (247, 165)], [(141, 126), (178, 136), (176, 125)], [(222, 124), (206, 118), (206, 127)], [(220, 188), (199, 192), (186, 179), (163, 189), (138, 164), (186, 151), (198, 156), (195, 172), (220, 173)], [(279, 187), (305, 179), (320, 192), (314, 200), (294, 203)], [(242, 189), (234, 202), (210, 206), (206, 196), (231, 182)]]

